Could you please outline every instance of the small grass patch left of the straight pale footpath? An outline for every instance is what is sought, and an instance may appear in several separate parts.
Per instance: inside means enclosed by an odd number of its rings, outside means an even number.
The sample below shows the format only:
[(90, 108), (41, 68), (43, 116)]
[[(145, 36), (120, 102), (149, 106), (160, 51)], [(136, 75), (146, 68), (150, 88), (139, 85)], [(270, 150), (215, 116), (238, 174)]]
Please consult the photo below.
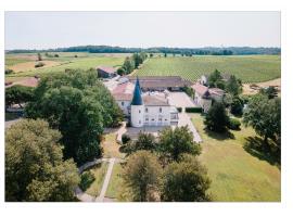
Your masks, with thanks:
[(103, 186), (103, 181), (104, 181), (104, 177), (107, 170), (107, 164), (109, 163), (101, 163), (95, 165), (94, 167), (90, 168), (90, 173), (93, 174), (95, 180), (91, 183), (91, 186), (87, 189), (86, 193), (92, 195), (92, 196), (99, 196), (102, 186)]

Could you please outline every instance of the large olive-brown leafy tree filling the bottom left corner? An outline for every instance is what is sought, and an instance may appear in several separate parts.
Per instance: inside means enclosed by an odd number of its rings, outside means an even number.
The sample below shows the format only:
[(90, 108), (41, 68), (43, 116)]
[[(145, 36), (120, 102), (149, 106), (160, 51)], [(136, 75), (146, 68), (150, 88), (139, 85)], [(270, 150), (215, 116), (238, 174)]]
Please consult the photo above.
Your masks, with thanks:
[(44, 120), (23, 119), (5, 132), (7, 201), (74, 201), (79, 175), (63, 161), (61, 133)]

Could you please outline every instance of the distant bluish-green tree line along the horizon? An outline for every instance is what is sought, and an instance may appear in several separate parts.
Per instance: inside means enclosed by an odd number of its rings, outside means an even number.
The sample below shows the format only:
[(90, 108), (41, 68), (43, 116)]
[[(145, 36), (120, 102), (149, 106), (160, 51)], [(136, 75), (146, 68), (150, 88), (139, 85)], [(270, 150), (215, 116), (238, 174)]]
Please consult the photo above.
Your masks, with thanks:
[(7, 53), (36, 53), (36, 52), (89, 52), (89, 53), (168, 53), (193, 55), (249, 55), (249, 54), (280, 54), (280, 48), (252, 48), (252, 47), (206, 47), (206, 48), (122, 48), (111, 46), (77, 46), (46, 50), (15, 49), (7, 50)]

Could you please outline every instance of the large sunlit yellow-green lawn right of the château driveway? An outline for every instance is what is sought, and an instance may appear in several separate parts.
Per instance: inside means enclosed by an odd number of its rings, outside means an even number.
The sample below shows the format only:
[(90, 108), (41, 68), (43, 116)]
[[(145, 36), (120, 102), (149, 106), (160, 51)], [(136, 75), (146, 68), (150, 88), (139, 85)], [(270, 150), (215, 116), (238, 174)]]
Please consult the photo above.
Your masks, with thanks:
[[(255, 131), (241, 126), (227, 136), (204, 130), (203, 117), (192, 114), (192, 122), (203, 143), (200, 161), (207, 167), (212, 179), (209, 189), (215, 201), (275, 201), (281, 200), (281, 171), (265, 159), (251, 155), (243, 149)], [(232, 138), (232, 137), (231, 137)]]

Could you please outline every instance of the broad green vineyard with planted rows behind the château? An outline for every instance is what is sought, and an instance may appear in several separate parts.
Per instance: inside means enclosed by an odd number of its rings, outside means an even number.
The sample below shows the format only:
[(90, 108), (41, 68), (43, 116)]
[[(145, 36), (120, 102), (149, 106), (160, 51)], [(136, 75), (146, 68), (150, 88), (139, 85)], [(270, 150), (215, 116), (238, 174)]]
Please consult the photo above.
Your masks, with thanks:
[(279, 55), (200, 55), (192, 58), (168, 56), (149, 59), (135, 75), (181, 76), (194, 81), (215, 69), (233, 74), (243, 82), (267, 81), (281, 76)]

